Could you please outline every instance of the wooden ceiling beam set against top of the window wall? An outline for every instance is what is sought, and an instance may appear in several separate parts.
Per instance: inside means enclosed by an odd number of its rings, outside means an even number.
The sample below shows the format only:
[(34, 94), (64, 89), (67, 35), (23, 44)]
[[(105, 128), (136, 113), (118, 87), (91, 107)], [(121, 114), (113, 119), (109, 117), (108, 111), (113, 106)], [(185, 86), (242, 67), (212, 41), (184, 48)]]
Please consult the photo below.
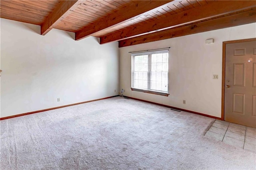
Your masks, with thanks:
[[(232, 26), (239, 26), (243, 24), (250, 24), (256, 22), (256, 10), (250, 10), (222, 18), (216, 18), (196, 24), (190, 24), (179, 28), (171, 28), (152, 34), (138, 36), (126, 40), (119, 41), (119, 47), (132, 46), (136, 44), (142, 44), (146, 42), (153, 42), (158, 40), (164, 40), (168, 38), (174, 38), (179, 36), (186, 36), (190, 34), (196, 34), (200, 32), (206, 32), (211, 30), (218, 30), (221, 28), (227, 28)], [(246, 30), (245, 30), (246, 31)]]

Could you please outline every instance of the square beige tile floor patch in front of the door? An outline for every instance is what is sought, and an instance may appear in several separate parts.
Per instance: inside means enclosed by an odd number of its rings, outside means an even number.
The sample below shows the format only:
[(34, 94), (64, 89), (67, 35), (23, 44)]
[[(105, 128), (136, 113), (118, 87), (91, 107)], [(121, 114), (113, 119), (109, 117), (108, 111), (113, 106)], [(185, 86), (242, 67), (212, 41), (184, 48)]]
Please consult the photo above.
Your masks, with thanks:
[(215, 120), (205, 136), (256, 153), (256, 128)]

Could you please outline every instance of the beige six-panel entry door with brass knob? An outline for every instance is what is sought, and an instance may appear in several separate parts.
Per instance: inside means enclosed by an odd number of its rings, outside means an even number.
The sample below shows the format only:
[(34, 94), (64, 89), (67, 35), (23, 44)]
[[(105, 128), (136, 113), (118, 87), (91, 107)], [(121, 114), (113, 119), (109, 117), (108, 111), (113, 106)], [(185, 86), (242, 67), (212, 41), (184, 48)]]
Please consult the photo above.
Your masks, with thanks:
[(226, 44), (224, 120), (256, 127), (256, 41)]

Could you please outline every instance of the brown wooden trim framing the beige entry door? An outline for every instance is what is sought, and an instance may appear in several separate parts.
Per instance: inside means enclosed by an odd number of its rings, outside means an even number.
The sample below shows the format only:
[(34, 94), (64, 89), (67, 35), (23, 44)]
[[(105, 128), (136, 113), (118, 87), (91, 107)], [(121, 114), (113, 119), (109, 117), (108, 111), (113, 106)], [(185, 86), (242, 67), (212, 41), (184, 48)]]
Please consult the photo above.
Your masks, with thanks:
[(222, 43), (222, 94), (221, 94), (221, 120), (224, 120), (224, 109), (225, 109), (225, 70), (226, 70), (226, 44), (233, 44), (239, 42), (250, 42), (256, 41), (256, 38), (249, 38), (243, 40), (232, 40), (224, 41)]

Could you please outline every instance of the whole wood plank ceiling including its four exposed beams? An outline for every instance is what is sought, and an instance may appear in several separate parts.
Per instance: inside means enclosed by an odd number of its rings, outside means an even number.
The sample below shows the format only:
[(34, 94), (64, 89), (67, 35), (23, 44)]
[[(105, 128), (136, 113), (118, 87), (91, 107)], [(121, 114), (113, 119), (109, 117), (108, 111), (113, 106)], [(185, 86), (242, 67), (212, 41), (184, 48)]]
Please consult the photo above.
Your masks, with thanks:
[(256, 1), (1, 0), (0, 16), (124, 47), (256, 22)]

